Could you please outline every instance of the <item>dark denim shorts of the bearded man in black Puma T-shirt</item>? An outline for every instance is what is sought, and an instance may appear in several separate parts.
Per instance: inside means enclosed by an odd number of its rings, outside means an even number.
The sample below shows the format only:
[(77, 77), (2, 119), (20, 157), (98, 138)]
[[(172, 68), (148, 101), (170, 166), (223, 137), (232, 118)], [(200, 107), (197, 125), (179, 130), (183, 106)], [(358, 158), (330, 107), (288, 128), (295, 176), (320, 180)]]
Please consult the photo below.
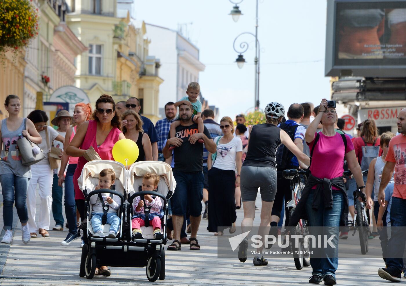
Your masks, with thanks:
[(176, 192), (171, 198), (172, 215), (184, 216), (189, 206), (190, 216), (201, 216), (203, 199), (203, 172), (174, 173), (176, 180)]

